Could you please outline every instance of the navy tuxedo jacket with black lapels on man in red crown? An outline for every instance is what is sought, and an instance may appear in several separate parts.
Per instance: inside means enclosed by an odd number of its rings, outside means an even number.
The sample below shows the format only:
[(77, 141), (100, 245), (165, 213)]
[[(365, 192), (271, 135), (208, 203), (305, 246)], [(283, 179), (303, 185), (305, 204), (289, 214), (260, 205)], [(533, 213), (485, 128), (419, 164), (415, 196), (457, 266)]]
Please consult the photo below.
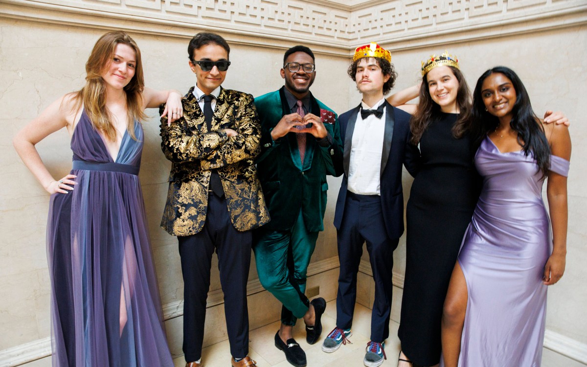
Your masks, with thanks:
[[(384, 103), (386, 104), (386, 116), (383, 150), (380, 157), (373, 157), (373, 159), (381, 161), (380, 194), (387, 235), (390, 238), (399, 238), (404, 231), (402, 164), (406, 166), (411, 176), (416, 176), (419, 169), (420, 151), (409, 142), (411, 115), (393, 107), (387, 101)], [(340, 229), (343, 213), (345, 213), (350, 147), (359, 109), (360, 105), (338, 117), (340, 136), (344, 144), (342, 168), (345, 174), (336, 201), (334, 225), (337, 230)]]

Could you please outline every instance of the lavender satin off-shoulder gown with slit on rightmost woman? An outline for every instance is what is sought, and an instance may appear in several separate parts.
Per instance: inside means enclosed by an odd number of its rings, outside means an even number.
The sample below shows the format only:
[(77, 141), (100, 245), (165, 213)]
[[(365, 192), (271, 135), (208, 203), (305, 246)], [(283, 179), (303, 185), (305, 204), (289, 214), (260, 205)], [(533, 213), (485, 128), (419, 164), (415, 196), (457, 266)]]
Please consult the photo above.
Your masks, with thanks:
[[(500, 153), (488, 137), (475, 166), (483, 190), (458, 255), (468, 289), (458, 365), (540, 366), (552, 251), (544, 179), (531, 154)], [(567, 176), (569, 161), (551, 156), (551, 171)]]

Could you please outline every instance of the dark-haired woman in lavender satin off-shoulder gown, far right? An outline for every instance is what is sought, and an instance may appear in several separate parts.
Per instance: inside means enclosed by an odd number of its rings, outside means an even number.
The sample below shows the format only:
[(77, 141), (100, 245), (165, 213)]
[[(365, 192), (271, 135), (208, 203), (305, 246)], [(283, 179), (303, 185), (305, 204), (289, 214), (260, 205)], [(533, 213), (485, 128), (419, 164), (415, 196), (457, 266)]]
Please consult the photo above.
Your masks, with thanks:
[(504, 66), (479, 78), (473, 116), (483, 190), (444, 304), (444, 366), (539, 366), (546, 286), (565, 270), (571, 139), (566, 126), (539, 122)]

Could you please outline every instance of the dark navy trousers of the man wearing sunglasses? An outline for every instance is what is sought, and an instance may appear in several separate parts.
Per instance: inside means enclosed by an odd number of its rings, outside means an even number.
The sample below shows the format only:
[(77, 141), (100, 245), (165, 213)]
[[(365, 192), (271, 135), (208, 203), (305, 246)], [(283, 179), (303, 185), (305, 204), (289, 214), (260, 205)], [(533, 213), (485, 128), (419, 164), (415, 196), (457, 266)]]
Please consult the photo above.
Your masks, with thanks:
[(224, 292), (230, 352), (244, 358), (249, 349), (247, 280), (251, 265), (251, 231), (239, 232), (232, 225), (225, 197), (210, 193), (204, 228), (196, 234), (177, 237), (184, 280), (185, 361), (202, 355), (206, 298), (214, 250), (218, 255), (220, 283)]

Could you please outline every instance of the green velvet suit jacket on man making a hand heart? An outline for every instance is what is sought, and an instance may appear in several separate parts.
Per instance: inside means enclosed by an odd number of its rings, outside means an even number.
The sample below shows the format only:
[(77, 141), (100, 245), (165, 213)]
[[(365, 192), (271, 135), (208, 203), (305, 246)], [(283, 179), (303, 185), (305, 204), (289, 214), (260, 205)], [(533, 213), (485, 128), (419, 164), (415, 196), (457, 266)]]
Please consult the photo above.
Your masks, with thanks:
[[(257, 173), (271, 215), (271, 221), (264, 228), (289, 230), (298, 218), (301, 208), (306, 230), (322, 231), (328, 190), (326, 174), (342, 174), (342, 169), (335, 168), (342, 167), (343, 154), (338, 117), (333, 110), (311, 95), (310, 112), (313, 115), (325, 116), (324, 113), (329, 113), (334, 117), (333, 123), (324, 123), (333, 142), (328, 147), (322, 147), (315, 137), (306, 134), (306, 153), (302, 167), (295, 133), (288, 133), (275, 142), (271, 139), (271, 130), (281, 117), (291, 113), (284, 88), (255, 98), (261, 120), (261, 153), (256, 161)], [(324, 118), (322, 120), (325, 121)]]

